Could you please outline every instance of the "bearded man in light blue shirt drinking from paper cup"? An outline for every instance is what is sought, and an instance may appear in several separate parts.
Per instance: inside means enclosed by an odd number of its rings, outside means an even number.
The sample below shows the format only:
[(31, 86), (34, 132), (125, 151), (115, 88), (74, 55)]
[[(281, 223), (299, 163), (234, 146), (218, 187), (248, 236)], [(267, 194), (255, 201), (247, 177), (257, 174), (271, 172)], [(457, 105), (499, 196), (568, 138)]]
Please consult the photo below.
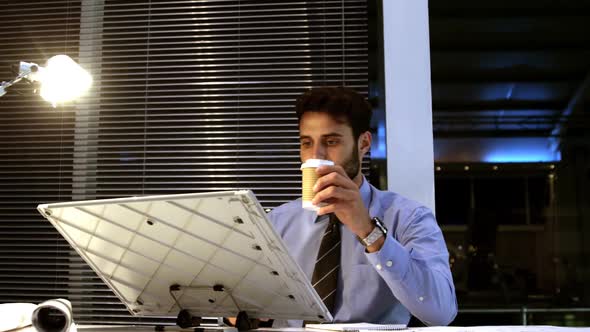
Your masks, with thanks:
[(361, 173), (372, 140), (369, 104), (352, 89), (317, 88), (298, 98), (296, 111), (301, 161), (335, 163), (317, 169), (313, 203), (325, 205), (304, 210), (298, 199), (269, 217), (310, 280), (328, 215), (340, 221), (334, 321), (407, 324), (414, 315), (427, 325), (449, 324), (457, 314), (455, 287), (432, 211), (377, 190)]

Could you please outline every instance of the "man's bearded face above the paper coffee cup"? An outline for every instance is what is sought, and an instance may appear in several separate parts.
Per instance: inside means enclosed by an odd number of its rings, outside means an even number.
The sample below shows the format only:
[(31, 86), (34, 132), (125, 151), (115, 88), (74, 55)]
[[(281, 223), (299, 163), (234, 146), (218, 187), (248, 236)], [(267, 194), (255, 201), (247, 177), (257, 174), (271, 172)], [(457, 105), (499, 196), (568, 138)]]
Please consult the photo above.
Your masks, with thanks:
[(301, 162), (327, 159), (342, 166), (351, 179), (359, 176), (358, 142), (348, 124), (325, 112), (305, 112), (299, 122), (299, 142)]

